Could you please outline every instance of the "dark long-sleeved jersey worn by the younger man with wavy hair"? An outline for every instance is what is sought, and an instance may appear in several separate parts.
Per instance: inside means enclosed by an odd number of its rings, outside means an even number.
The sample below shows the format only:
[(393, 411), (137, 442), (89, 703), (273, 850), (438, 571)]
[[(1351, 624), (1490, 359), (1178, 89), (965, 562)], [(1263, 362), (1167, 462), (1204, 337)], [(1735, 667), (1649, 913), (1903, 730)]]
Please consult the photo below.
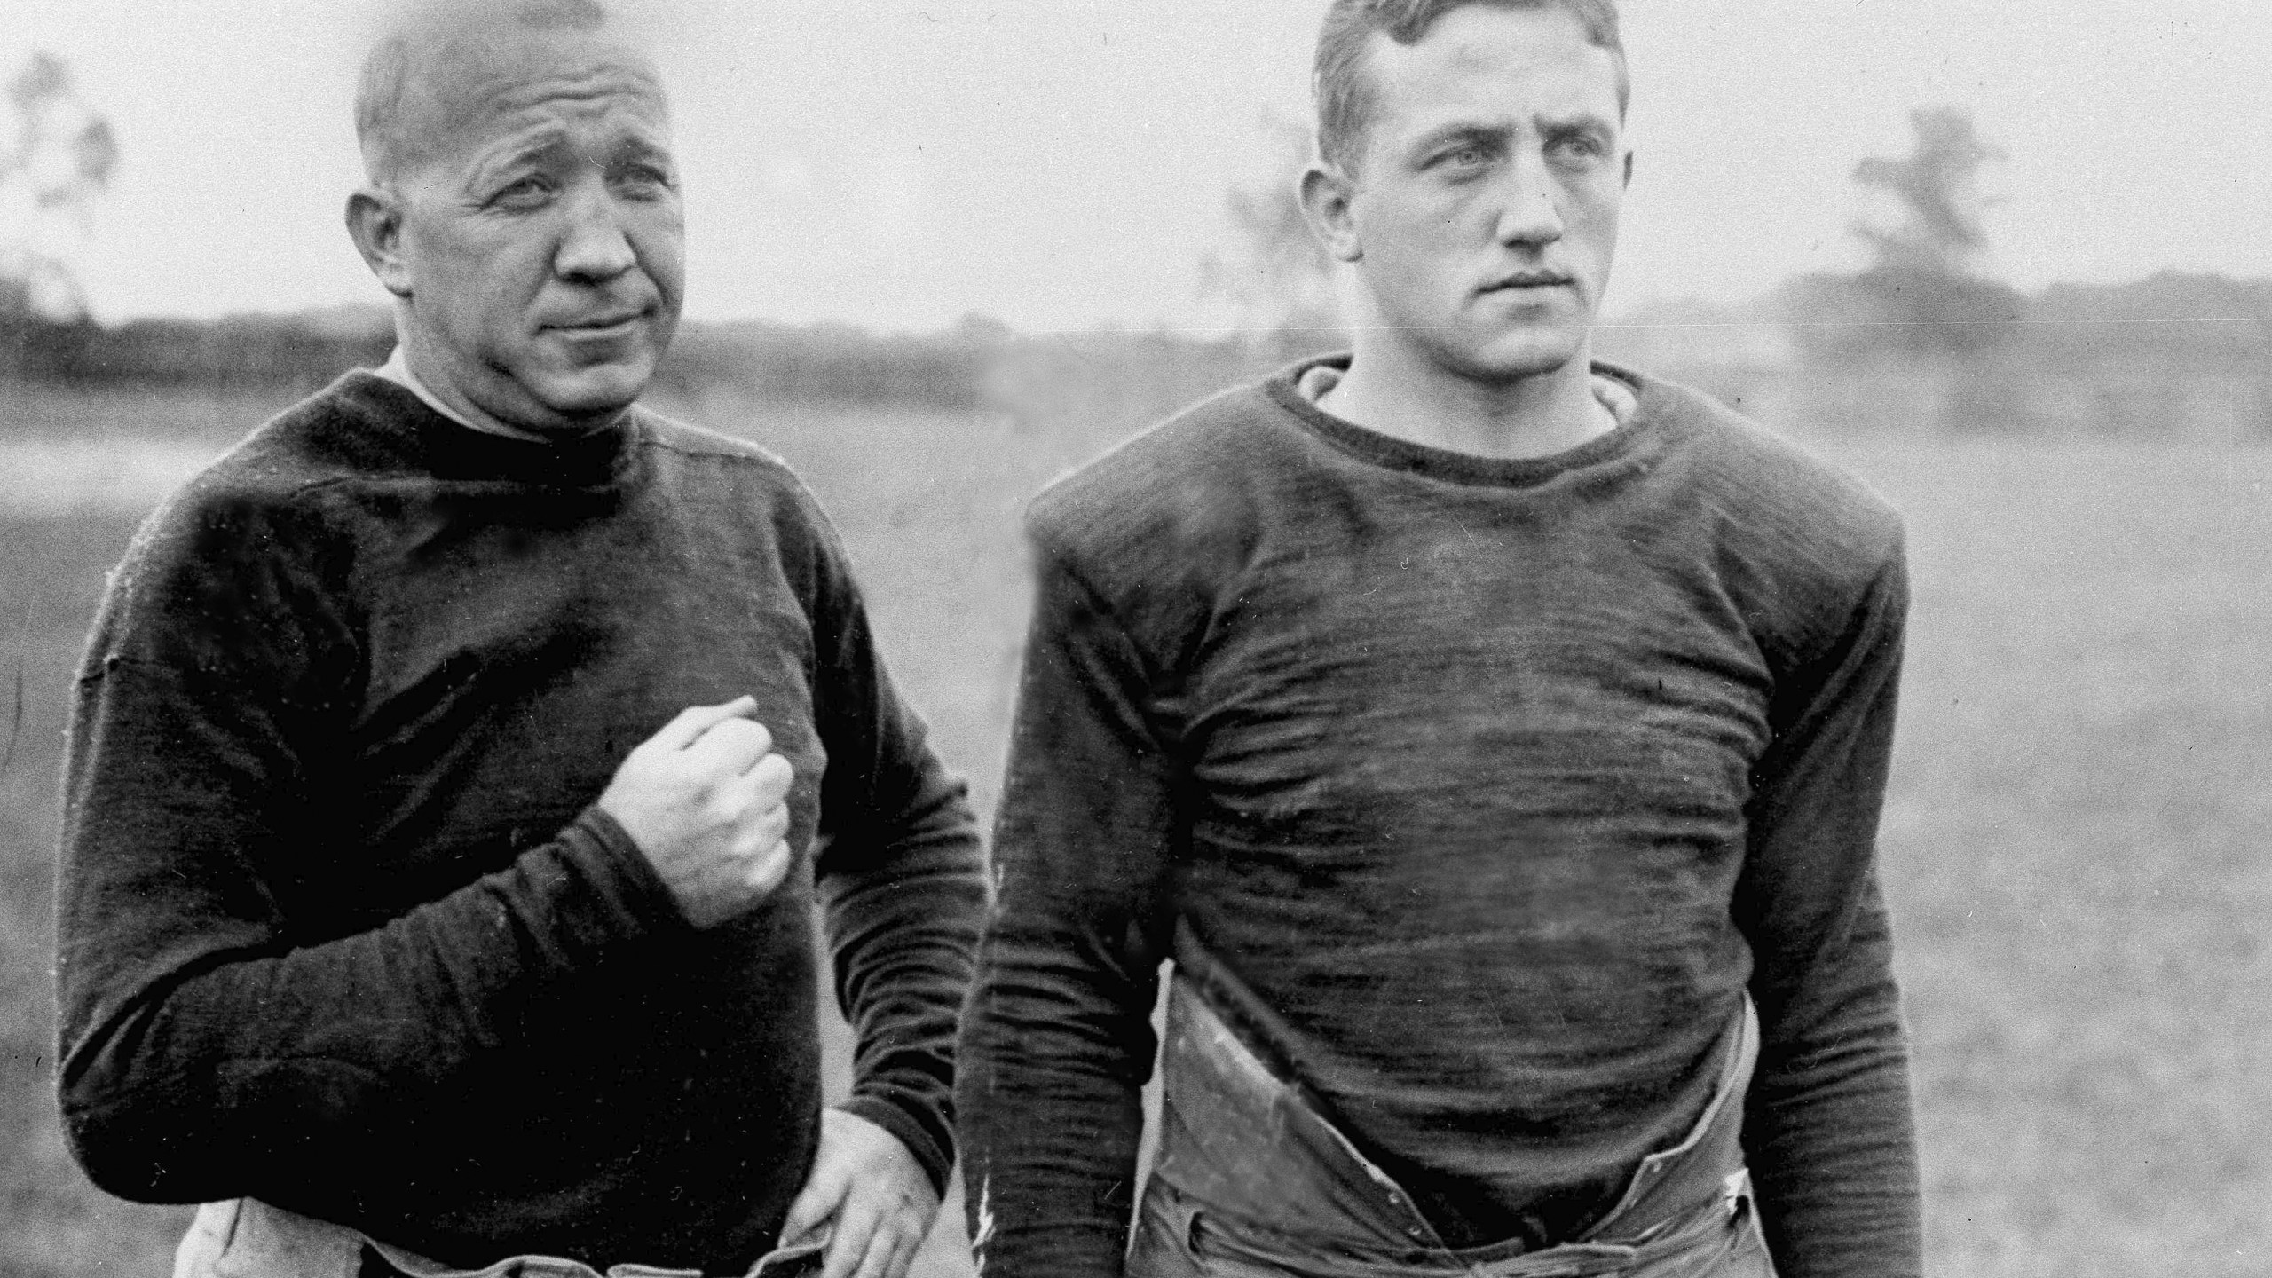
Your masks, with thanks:
[(1034, 505), (961, 1053), (991, 1278), (1120, 1271), (1175, 923), (1456, 1246), (1597, 1219), (1697, 1117), (1749, 991), (1784, 1273), (1918, 1271), (1872, 869), (1899, 523), (1618, 377), (1615, 432), (1490, 462), (1336, 421), (1288, 373)]

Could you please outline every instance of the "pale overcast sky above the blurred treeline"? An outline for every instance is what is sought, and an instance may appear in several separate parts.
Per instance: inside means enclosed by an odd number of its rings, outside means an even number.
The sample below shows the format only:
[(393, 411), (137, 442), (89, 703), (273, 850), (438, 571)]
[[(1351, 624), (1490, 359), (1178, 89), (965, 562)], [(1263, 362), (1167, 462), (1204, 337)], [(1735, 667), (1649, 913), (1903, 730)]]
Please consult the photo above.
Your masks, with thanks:
[[(1225, 191), (1302, 118), (1325, 0), (652, 0), (688, 175), (688, 314), (922, 330), (1204, 327)], [(2008, 152), (1993, 271), (2272, 275), (2261, 0), (1624, 0), (1640, 152), (1611, 305), (1858, 262), (1913, 107)], [(379, 300), (350, 5), (0, 0), (118, 130), (80, 275), (107, 321)], [(818, 14), (818, 16), (816, 16)]]

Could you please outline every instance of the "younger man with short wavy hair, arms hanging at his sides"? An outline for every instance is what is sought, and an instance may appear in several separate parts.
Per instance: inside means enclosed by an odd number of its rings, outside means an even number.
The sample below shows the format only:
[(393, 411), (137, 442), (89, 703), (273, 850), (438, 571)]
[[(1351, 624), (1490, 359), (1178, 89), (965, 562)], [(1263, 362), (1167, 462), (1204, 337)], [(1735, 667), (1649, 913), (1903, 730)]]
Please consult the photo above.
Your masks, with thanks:
[(1334, 0), (1300, 198), (1354, 352), (1029, 512), (986, 1278), (1920, 1271), (1899, 521), (1590, 359), (1624, 93), (1609, 0)]

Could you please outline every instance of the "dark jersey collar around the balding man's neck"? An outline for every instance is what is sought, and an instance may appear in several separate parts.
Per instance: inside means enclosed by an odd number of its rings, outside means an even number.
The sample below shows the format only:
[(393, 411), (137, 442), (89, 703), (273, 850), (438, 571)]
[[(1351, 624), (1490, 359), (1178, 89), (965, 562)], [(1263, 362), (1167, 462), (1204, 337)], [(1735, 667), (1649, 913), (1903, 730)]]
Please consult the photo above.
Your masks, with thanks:
[(600, 489), (627, 478), (636, 459), (641, 409), (613, 425), (568, 439), (513, 439), (466, 425), (429, 403), (416, 387), (375, 368), (357, 368), (341, 391), (409, 453), (407, 462), (436, 480), (516, 482), (532, 487)]

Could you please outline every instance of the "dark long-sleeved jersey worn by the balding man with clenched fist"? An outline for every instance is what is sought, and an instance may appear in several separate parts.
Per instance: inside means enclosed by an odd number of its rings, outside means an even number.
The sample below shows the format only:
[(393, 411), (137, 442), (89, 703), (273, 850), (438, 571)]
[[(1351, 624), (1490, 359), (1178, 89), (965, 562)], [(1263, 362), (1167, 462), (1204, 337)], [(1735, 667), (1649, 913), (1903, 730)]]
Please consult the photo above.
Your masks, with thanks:
[[(695, 930), (593, 800), (741, 694), (800, 862)], [(816, 891), (847, 1107), (943, 1182), (979, 850), (813, 498), (643, 409), (525, 443), (350, 373), (111, 578), (66, 773), (66, 1130), (130, 1198), (738, 1271), (818, 1139)]]

